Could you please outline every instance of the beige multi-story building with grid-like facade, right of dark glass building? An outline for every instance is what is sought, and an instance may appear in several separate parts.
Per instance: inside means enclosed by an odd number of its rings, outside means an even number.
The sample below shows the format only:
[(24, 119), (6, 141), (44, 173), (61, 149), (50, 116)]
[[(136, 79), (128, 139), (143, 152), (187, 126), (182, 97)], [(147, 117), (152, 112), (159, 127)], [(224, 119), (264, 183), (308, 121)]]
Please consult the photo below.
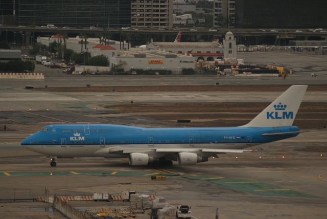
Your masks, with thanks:
[(172, 0), (131, 0), (131, 26), (172, 28)]

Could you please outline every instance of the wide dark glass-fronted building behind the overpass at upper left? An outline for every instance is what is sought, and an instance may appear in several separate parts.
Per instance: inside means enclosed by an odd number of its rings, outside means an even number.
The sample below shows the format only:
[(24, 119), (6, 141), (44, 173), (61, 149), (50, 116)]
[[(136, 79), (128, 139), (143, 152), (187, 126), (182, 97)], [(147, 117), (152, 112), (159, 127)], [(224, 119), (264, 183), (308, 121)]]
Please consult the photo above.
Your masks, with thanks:
[(131, 0), (8, 1), (14, 3), (18, 25), (129, 27), (131, 24)]

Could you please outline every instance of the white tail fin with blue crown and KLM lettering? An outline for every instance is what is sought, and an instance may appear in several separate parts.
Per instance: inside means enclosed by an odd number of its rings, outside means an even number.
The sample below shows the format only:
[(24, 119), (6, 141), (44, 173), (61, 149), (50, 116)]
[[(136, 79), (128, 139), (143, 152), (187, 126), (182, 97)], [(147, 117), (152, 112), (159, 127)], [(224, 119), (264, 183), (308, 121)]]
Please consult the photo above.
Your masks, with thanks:
[(293, 85), (244, 127), (291, 126), (308, 85)]

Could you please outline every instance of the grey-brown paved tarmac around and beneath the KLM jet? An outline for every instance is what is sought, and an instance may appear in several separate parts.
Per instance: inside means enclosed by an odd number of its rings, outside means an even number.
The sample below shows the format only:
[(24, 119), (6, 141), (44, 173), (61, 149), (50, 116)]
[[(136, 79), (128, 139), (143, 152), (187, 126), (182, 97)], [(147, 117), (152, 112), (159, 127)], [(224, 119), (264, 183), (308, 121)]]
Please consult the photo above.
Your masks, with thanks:
[[(265, 54), (265, 53), (263, 53)], [(249, 54), (252, 55), (252, 54)], [(283, 58), (283, 57), (281, 57)], [(313, 57), (314, 58), (314, 57)], [(305, 65), (304, 63), (303, 65)], [(323, 63), (324, 64), (324, 63)], [(323, 65), (322, 64), (322, 65)], [(113, 85), (212, 85), (221, 84), (327, 84), (327, 75), (311, 77), (309, 72), (283, 78), (221, 78), (216, 76), (99, 76), (46, 77), (44, 81), (1, 80), (0, 84), (0, 217), (65, 218), (51, 204), (19, 201), (44, 196), (45, 187), (58, 195), (92, 195), (93, 192), (120, 194), (123, 190), (163, 196), (173, 206), (191, 205), (194, 218), (325, 218), (327, 208), (327, 130), (324, 115), (327, 92), (307, 92), (302, 120), (312, 123), (314, 132), (264, 144), (254, 151), (238, 155), (220, 155), (193, 166), (129, 166), (127, 159), (58, 159), (50, 166), (49, 158), (20, 146), (20, 141), (42, 126), (54, 123), (115, 123), (139, 126), (167, 126), (165, 117), (151, 117), (149, 112), (123, 113), (118, 104), (263, 104), (284, 91), (272, 92), (46, 92), (25, 90), (25, 85), (113, 86)], [(320, 112), (317, 111), (322, 104)], [(109, 108), (105, 106), (110, 106)], [(220, 109), (217, 109), (219, 113)], [(210, 110), (211, 112), (212, 110)], [(258, 110), (256, 109), (255, 112)], [(153, 113), (153, 112), (152, 112)], [(169, 112), (167, 112), (169, 113)], [(174, 114), (173, 112), (171, 114)], [(185, 112), (179, 112), (185, 115)], [(201, 112), (199, 112), (201, 113)], [(220, 112), (224, 113), (224, 112)], [(233, 112), (225, 112), (233, 117)], [(320, 113), (320, 114), (319, 114)], [(126, 116), (128, 114), (128, 116)], [(212, 112), (212, 115), (213, 112)], [(304, 114), (303, 114), (304, 115)], [(247, 118), (255, 116), (250, 114)], [(318, 118), (317, 118), (318, 117)], [(306, 118), (307, 121), (306, 121)], [(234, 118), (237, 121), (237, 118)], [(217, 126), (219, 126), (217, 120)], [(239, 121), (238, 121), (239, 122)], [(245, 121), (244, 121), (245, 122)], [(4, 131), (6, 125), (6, 131)], [(185, 125), (185, 124), (182, 124)], [(187, 124), (186, 124), (187, 125)], [(319, 126), (319, 127), (318, 127)], [(304, 151), (315, 146), (317, 150)], [(259, 149), (259, 150), (258, 150)], [(151, 180), (165, 175), (166, 181)], [(13, 202), (17, 200), (17, 202)], [(78, 209), (106, 207), (92, 201), (69, 202)], [(114, 205), (124, 205), (120, 201)], [(148, 218), (139, 214), (137, 218)]]

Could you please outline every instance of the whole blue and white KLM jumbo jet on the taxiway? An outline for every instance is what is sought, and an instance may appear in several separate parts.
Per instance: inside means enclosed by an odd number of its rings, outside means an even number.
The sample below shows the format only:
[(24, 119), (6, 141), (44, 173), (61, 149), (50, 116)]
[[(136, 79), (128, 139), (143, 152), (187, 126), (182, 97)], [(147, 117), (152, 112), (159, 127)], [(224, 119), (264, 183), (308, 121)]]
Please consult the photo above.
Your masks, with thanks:
[(128, 158), (132, 166), (159, 163), (196, 164), (219, 154), (251, 151), (248, 147), (292, 138), (292, 126), (307, 85), (293, 85), (248, 124), (239, 127), (143, 128), (109, 124), (44, 126), (21, 145), (58, 157)]

